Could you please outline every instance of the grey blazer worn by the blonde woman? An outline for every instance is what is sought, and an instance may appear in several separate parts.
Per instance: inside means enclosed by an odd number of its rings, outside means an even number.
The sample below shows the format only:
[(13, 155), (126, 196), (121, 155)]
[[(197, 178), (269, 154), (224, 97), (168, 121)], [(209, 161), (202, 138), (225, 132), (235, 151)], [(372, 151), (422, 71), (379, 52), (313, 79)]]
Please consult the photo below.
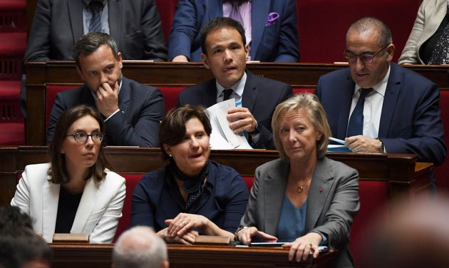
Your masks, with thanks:
[[(256, 169), (241, 226), (254, 226), (276, 236), (288, 175), (289, 163), (281, 159)], [(357, 170), (326, 157), (319, 158), (309, 190), (306, 232), (325, 234), (328, 244), (339, 249), (335, 267), (353, 266), (349, 232), (359, 207)]]

